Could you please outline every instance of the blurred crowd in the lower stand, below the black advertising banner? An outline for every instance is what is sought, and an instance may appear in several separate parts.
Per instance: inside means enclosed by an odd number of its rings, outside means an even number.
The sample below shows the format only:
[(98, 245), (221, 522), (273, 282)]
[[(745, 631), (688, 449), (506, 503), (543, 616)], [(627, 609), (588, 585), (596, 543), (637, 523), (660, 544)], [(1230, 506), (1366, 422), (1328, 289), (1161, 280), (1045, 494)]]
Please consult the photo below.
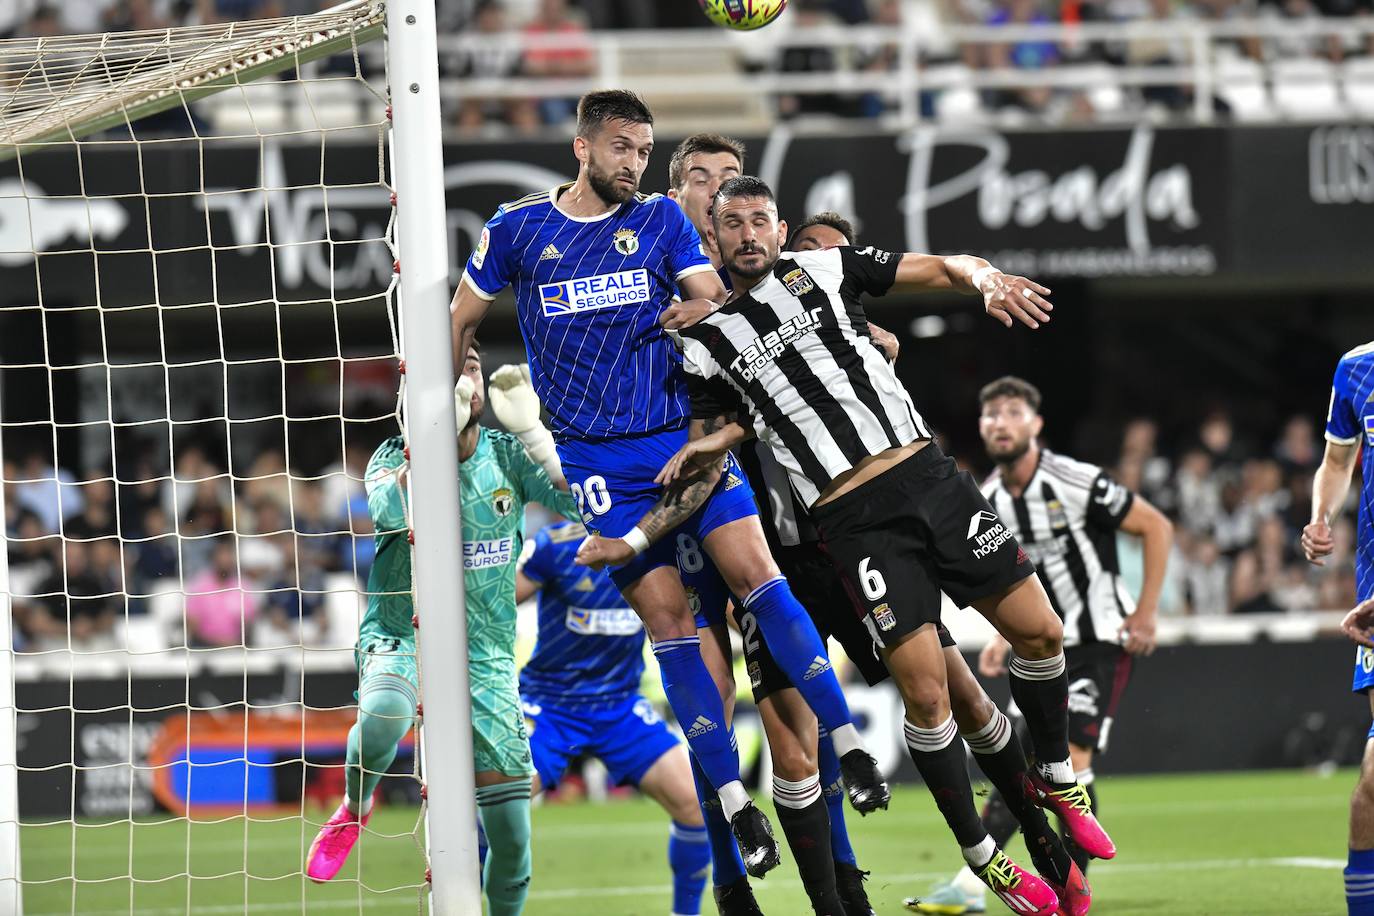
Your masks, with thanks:
[[(43, 450), (4, 464), (4, 514), (15, 639), (22, 650), (114, 648), (115, 621), (148, 600), (185, 592), (190, 645), (306, 644), (323, 637), (326, 577), (363, 582), (371, 522), (361, 488), (370, 448), (302, 478), (264, 450), (232, 478), (213, 448), (181, 450), (176, 467), (139, 468), (115, 485), (107, 470), (55, 468)], [(1224, 412), (1169, 446), (1153, 420), (1125, 428), (1117, 478), (1173, 519), (1176, 555), (1161, 612), (1217, 615), (1347, 608), (1353, 602), (1353, 525), (1333, 527), (1325, 567), (1303, 562), (1319, 427), (1294, 416), (1276, 441), (1246, 442)], [(547, 518), (529, 519), (530, 531)], [(1123, 573), (1140, 555), (1123, 536)], [(128, 599), (125, 596), (129, 596)], [(301, 628), (300, 630), (297, 628)], [(169, 634), (179, 639), (181, 634)], [(275, 641), (273, 641), (275, 640)]]

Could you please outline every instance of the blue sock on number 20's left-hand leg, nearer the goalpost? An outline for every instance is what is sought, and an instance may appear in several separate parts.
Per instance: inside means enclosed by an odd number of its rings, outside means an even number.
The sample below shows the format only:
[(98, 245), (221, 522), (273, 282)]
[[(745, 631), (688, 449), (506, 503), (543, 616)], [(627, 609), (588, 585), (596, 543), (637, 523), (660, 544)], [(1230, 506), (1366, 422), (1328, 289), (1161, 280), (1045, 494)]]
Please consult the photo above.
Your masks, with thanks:
[(725, 707), (701, 658), (701, 637), (654, 643), (664, 694), (687, 736), (687, 747), (716, 788), (739, 779), (739, 755), (730, 740)]

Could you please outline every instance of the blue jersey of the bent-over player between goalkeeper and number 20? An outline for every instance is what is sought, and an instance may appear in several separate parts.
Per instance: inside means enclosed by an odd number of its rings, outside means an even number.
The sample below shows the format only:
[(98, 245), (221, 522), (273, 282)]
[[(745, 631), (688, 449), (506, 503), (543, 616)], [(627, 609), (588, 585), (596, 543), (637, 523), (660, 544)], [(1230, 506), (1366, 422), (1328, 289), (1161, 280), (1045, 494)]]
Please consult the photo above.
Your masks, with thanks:
[(644, 629), (605, 570), (573, 558), (587, 529), (572, 522), (540, 530), (521, 571), (539, 582), (539, 640), (519, 673), (521, 695), (550, 705), (620, 703), (639, 692)]

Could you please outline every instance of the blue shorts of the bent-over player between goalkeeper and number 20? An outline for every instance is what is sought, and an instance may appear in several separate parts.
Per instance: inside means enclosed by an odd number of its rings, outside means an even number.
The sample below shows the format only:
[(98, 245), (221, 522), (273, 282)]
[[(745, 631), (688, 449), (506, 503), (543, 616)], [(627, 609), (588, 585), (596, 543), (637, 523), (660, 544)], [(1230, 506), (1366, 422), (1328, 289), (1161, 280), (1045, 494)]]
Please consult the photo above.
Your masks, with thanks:
[(544, 788), (558, 786), (567, 764), (583, 754), (599, 758), (616, 786), (638, 786), (649, 768), (679, 743), (643, 696), (594, 710), (551, 706), (536, 696), (521, 698), (521, 703), (534, 770)]

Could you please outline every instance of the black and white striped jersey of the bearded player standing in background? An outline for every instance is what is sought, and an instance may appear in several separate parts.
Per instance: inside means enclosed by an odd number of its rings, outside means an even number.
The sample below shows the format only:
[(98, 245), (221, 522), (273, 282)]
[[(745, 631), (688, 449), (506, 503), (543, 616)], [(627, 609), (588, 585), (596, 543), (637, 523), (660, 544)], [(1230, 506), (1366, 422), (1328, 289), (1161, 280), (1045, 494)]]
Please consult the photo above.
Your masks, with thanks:
[(1096, 464), (1050, 449), (1040, 449), (1021, 496), (1011, 496), (998, 471), (982, 494), (1035, 560), (1063, 618), (1063, 644), (1120, 643), (1121, 621), (1135, 611), (1135, 599), (1121, 584), (1116, 533), (1135, 494)]

